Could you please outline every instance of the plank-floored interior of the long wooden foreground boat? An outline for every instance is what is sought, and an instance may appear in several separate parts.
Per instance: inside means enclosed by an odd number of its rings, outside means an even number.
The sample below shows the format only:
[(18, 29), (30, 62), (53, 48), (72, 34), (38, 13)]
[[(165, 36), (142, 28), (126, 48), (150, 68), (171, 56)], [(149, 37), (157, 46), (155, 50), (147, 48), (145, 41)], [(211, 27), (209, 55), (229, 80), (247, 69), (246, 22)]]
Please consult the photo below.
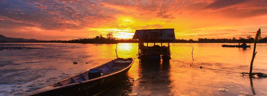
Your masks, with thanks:
[[(95, 68), (99, 68), (100, 72), (101, 72), (101, 76), (105, 76), (105, 75), (109, 75), (109, 74), (118, 72), (118, 71), (128, 67), (132, 63), (132, 61), (133, 61), (132, 58), (128, 58), (128, 59), (118, 58), (118, 59), (114, 59), (108, 63), (97, 66)], [(71, 84), (71, 83), (75, 83), (75, 82), (81, 82), (81, 81), (89, 80), (88, 72), (89, 72), (89, 70), (82, 73), (82, 74), (70, 77), (66, 80), (60, 81), (56, 84), (53, 84), (52, 86), (62, 86), (62, 85), (67, 85), (67, 84)]]

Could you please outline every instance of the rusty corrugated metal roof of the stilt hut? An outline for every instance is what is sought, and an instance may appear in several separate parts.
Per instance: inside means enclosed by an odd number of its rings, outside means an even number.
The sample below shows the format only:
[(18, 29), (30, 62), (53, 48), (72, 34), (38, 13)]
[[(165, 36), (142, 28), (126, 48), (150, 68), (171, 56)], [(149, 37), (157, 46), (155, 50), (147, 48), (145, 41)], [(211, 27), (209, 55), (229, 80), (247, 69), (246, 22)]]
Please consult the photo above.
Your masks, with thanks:
[(175, 40), (174, 28), (135, 30), (133, 39), (139, 40)]

